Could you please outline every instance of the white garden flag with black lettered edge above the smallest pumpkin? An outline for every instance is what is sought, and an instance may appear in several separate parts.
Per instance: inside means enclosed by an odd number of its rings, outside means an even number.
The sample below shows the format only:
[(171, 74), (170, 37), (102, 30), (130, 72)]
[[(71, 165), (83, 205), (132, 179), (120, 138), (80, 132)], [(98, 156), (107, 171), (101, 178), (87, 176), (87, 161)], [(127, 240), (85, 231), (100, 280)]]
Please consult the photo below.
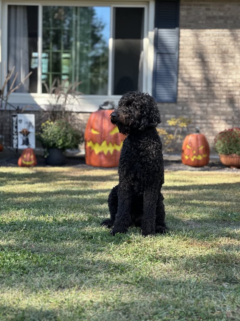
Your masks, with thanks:
[(35, 148), (35, 115), (12, 115), (12, 146), (13, 148)]

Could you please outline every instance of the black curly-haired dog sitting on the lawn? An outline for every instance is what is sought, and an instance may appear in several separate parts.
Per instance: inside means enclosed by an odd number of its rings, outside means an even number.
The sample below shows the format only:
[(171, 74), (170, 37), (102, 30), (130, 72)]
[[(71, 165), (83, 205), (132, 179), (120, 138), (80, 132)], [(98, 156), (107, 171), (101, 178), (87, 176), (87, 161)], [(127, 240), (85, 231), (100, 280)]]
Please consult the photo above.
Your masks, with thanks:
[(148, 94), (130, 91), (110, 115), (119, 132), (127, 135), (118, 166), (119, 184), (108, 196), (110, 219), (101, 225), (111, 233), (125, 233), (140, 226), (143, 235), (166, 231), (162, 143), (156, 131), (160, 114)]

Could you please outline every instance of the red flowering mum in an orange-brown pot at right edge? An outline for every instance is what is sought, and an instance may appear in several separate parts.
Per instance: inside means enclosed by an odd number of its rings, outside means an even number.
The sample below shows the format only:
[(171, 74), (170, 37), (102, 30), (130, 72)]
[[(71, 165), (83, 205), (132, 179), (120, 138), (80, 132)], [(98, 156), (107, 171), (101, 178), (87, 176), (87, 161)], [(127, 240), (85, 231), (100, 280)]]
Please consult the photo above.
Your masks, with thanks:
[(224, 165), (240, 168), (240, 128), (225, 129), (218, 133), (214, 147)]

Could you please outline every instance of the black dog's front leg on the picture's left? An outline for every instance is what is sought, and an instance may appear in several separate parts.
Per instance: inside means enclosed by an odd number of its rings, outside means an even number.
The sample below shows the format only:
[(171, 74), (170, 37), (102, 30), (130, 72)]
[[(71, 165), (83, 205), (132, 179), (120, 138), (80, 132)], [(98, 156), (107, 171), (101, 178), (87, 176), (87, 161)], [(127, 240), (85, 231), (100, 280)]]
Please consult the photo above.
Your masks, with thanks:
[(128, 227), (131, 224), (131, 200), (132, 193), (131, 188), (127, 184), (119, 184), (118, 186), (118, 206), (117, 213), (111, 230), (111, 234), (115, 235), (116, 233), (126, 233)]

